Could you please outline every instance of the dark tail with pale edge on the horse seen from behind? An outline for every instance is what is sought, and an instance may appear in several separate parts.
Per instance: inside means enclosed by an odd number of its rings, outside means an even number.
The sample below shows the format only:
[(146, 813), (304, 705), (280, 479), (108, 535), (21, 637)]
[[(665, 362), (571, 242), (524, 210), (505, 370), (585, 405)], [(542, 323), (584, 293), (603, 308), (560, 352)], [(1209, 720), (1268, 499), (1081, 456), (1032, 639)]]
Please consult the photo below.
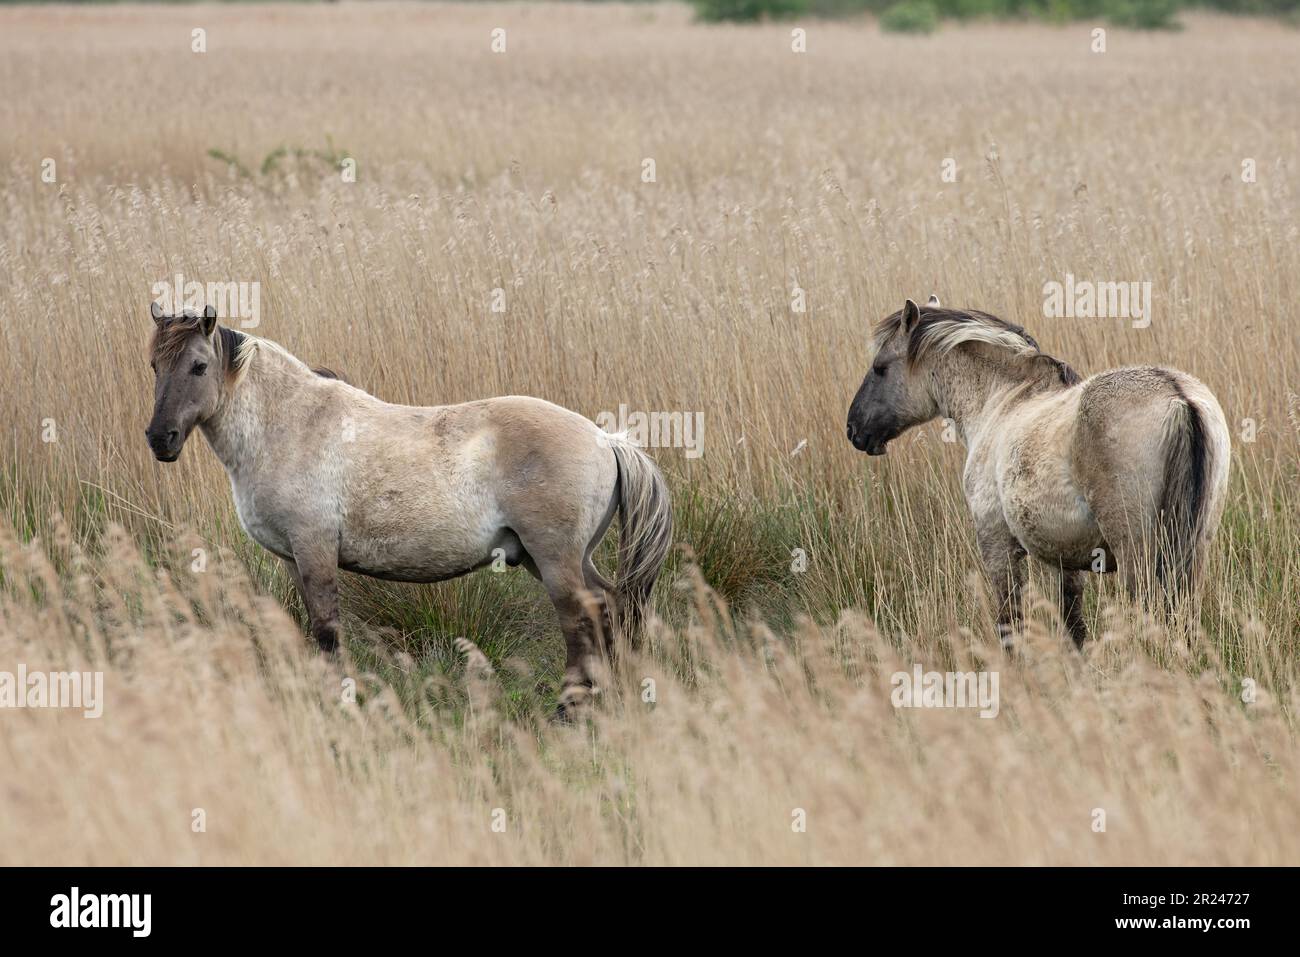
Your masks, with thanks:
[(1160, 497), (1156, 577), (1165, 593), (1190, 593), (1218, 524), (1227, 480), (1227, 423), (1218, 402), (1195, 380), (1173, 377), (1165, 419), (1165, 482)]

